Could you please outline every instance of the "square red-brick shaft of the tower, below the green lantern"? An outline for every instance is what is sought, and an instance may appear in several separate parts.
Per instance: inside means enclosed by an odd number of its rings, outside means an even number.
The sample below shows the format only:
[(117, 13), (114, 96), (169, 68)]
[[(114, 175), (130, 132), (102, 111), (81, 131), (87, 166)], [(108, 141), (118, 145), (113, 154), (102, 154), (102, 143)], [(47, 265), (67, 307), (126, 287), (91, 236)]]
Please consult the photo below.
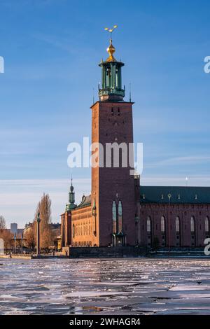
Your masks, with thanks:
[[(92, 143), (104, 146), (104, 154), (99, 152), (99, 163), (104, 167), (92, 167), (92, 207), (95, 200), (97, 214), (97, 241), (99, 246), (113, 243), (113, 201), (123, 205), (124, 244), (135, 244), (134, 226), (134, 176), (130, 174), (132, 167), (105, 167), (106, 144), (133, 142), (132, 103), (97, 102), (92, 106)], [(122, 155), (120, 156), (120, 162)], [(127, 153), (127, 162), (128, 162)]]

